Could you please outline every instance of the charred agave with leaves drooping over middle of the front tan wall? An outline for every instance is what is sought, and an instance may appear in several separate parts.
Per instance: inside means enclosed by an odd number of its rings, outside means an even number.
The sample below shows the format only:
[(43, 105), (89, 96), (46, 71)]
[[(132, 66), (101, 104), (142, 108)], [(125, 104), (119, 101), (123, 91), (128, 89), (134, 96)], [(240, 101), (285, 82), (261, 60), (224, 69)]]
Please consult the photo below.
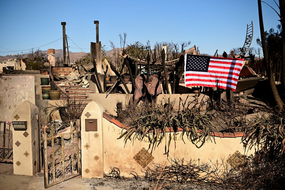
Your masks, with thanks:
[[(187, 99), (189, 96), (187, 97)], [(156, 102), (140, 102), (138, 105), (126, 105), (123, 109), (117, 110), (118, 119), (129, 126), (119, 137), (124, 138), (125, 144), (128, 140), (138, 139), (143, 141), (147, 138), (149, 149), (152, 151), (159, 144), (165, 144), (165, 153), (168, 155), (171, 141), (179, 138), (185, 143), (184, 136), (200, 147), (210, 138), (211, 115), (201, 112), (203, 103), (181, 102), (182, 110), (175, 110), (174, 101), (164, 99)], [(190, 107), (191, 105), (191, 107)], [(194, 105), (194, 106), (193, 106)], [(182, 133), (177, 133), (182, 131)]]

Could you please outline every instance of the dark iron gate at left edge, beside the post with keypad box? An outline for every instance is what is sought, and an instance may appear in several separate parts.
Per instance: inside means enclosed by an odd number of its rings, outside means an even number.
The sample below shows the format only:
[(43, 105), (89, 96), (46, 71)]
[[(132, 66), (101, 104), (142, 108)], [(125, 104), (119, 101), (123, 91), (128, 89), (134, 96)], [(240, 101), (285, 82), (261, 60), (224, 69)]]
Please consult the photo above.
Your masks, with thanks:
[(0, 161), (13, 162), (13, 135), (10, 122), (0, 121)]

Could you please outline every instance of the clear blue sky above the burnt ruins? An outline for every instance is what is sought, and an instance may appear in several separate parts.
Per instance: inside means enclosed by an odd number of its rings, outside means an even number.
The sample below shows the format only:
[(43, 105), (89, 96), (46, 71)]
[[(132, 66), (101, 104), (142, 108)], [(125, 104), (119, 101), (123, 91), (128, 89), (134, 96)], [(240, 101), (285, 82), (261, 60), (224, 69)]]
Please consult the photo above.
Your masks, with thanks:
[[(264, 0), (278, 10), (273, 0)], [(191, 41), (201, 53), (213, 55), (243, 46), (246, 25), (253, 21), (253, 47), (260, 37), (257, 0), (188, 1), (14, 1), (0, 0), (0, 55), (36, 48), (62, 37), (61, 22), (72, 52), (90, 52), (96, 42), (94, 20), (99, 20), (99, 40), (111, 49), (110, 40), (120, 47), (119, 34), (127, 34), (127, 44)], [(66, 5), (65, 5), (66, 4)], [(262, 3), (265, 30), (280, 24), (272, 8)], [(279, 12), (279, 10), (278, 10)], [(62, 39), (40, 47), (62, 49)], [(81, 49), (78, 49), (78, 47)], [(24, 53), (29, 50), (23, 51)]]

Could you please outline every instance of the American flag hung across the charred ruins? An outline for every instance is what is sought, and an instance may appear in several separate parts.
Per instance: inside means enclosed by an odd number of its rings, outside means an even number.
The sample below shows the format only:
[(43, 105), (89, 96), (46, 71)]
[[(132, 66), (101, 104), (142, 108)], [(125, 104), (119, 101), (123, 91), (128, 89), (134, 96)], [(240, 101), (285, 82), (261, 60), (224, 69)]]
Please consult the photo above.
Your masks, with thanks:
[(236, 91), (243, 59), (185, 54), (185, 85)]

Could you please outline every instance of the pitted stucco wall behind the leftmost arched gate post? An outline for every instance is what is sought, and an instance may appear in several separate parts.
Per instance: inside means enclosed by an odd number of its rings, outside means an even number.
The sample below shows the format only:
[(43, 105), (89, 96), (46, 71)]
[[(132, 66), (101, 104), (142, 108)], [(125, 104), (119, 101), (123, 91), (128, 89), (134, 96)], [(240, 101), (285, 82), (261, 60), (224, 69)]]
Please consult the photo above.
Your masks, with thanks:
[(15, 108), (25, 100), (35, 104), (35, 76), (1, 75), (0, 120), (11, 121)]

